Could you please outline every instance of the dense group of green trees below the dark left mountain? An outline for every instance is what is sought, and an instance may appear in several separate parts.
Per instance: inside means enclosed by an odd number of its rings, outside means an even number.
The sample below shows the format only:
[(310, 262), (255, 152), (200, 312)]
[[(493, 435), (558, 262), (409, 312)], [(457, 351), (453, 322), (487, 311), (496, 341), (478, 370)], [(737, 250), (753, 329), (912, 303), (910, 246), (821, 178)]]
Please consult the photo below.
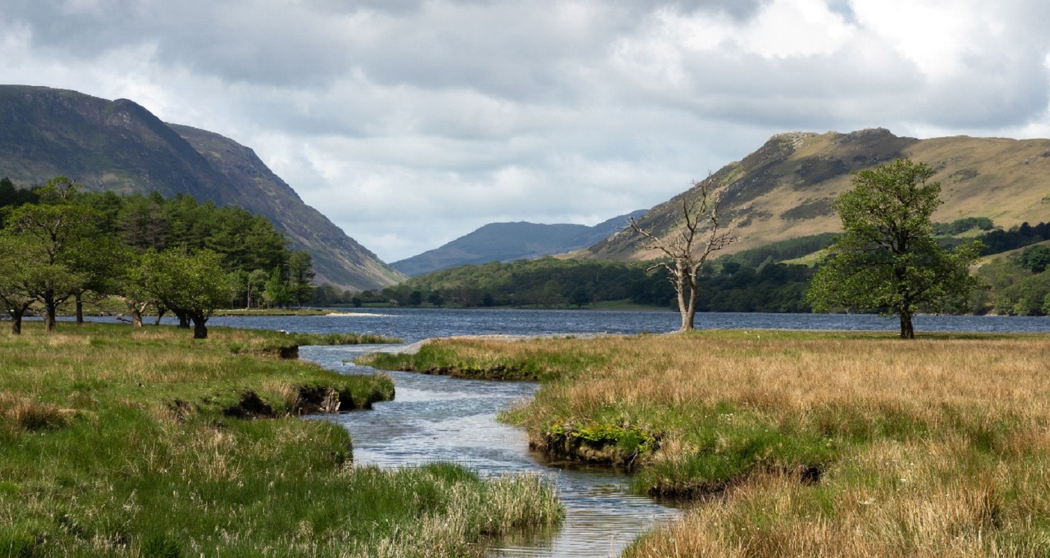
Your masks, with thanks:
[(309, 253), (240, 208), (83, 192), (64, 177), (29, 189), (0, 180), (0, 302), (15, 331), (35, 304), (54, 329), (58, 305), (74, 301), (81, 322), (85, 299), (116, 294), (136, 324), (151, 307), (206, 336), (216, 308), (310, 301), (312, 268)]

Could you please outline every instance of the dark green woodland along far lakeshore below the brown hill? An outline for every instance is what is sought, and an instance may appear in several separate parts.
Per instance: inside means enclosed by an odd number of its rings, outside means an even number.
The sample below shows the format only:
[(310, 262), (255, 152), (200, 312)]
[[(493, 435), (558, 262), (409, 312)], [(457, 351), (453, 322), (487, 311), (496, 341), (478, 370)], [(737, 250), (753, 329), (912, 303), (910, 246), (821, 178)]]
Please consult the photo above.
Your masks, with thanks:
[[(995, 229), (991, 220), (966, 218), (951, 223), (934, 223), (941, 234), (985, 231), (975, 237), (994, 253), (1030, 246), (1050, 237), (1050, 226), (1027, 223), (1009, 230)], [(835, 241), (835, 233), (814, 234), (727, 254), (711, 262), (699, 277), (697, 309), (706, 312), (810, 312), (804, 294), (815, 267), (784, 264), (822, 250)], [(945, 242), (952, 239), (946, 237)], [(1043, 282), (1050, 266), (1050, 248), (1030, 246), (1004, 263), (986, 266), (982, 272), (990, 289), (970, 301), (960, 302), (970, 312), (1042, 315), (1046, 293)], [(461, 266), (414, 277), (382, 291), (336, 292), (318, 290), (318, 304), (370, 303), (426, 307), (584, 307), (607, 302), (676, 308), (674, 288), (663, 270), (647, 272), (645, 265), (620, 262), (521, 260), (507, 264)], [(328, 289), (322, 296), (322, 290)]]

